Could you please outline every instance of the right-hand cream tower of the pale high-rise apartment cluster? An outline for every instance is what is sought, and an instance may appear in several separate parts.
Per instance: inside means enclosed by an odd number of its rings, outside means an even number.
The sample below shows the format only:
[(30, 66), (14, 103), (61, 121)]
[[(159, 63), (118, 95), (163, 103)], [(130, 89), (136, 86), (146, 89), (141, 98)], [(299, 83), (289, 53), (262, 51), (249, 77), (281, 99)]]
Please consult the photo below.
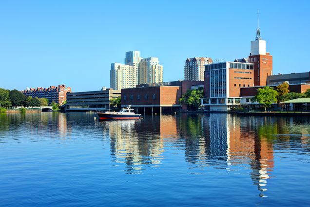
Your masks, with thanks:
[(138, 67), (138, 83), (163, 82), (163, 67), (159, 65), (158, 57), (143, 58)]

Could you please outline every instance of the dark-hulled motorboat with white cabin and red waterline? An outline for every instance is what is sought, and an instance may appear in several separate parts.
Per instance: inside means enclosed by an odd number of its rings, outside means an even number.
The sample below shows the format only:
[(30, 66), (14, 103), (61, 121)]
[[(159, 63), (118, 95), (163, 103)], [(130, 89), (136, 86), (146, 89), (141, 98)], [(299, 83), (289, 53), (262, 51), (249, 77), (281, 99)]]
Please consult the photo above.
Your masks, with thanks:
[(119, 112), (97, 112), (99, 120), (103, 119), (139, 119), (141, 114), (134, 113), (134, 109), (131, 109), (131, 105), (127, 108), (122, 108)]

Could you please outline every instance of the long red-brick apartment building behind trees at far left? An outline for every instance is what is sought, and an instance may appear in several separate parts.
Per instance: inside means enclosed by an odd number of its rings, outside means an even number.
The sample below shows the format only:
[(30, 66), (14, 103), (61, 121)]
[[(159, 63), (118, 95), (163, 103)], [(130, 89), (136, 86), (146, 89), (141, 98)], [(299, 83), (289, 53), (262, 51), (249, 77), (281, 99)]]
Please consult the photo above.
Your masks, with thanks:
[(66, 85), (58, 85), (58, 87), (50, 86), (49, 88), (27, 88), (21, 93), (31, 97), (47, 98), (48, 104), (51, 104), (52, 101), (55, 101), (55, 103), (58, 103), (61, 106), (67, 99), (68, 92), (71, 92), (70, 87), (66, 88)]

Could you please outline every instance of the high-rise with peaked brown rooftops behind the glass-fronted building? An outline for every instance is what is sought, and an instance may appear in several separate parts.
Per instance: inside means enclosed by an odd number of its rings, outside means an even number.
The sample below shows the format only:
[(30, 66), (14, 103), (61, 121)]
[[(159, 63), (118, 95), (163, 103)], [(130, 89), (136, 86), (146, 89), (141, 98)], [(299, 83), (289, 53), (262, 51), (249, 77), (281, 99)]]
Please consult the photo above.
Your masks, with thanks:
[(185, 80), (204, 80), (205, 66), (212, 63), (210, 57), (193, 57), (187, 58), (184, 66)]

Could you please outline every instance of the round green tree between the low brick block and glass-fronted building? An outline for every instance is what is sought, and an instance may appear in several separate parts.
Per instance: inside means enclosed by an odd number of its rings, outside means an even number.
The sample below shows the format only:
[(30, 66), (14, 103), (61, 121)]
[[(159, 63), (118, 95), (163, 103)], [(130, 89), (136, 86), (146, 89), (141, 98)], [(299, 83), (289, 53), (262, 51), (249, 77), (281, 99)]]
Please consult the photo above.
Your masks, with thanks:
[(200, 99), (203, 97), (203, 88), (199, 87), (194, 90), (187, 90), (179, 99), (181, 104), (185, 104), (191, 109), (198, 109), (200, 107)]

